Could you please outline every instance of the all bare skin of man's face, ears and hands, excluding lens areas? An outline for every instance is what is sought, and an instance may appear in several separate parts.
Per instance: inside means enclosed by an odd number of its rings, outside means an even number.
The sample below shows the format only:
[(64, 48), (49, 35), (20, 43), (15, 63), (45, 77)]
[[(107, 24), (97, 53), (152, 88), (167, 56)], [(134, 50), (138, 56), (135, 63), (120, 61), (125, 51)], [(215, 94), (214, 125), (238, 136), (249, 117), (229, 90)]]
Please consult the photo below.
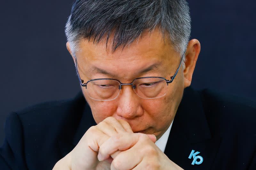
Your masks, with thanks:
[[(115, 78), (122, 83), (130, 83), (134, 78), (148, 76), (170, 79), (181, 59), (167, 39), (164, 43), (158, 29), (142, 34), (138, 41), (124, 49), (118, 48), (114, 53), (111, 52), (111, 44), (108, 44), (106, 48), (104, 40), (99, 44), (80, 41), (76, 59), (80, 77), (85, 82), (94, 78)], [(67, 49), (72, 55), (68, 42)], [(154, 143), (170, 126), (183, 90), (191, 84), (199, 52), (199, 41), (189, 41), (185, 53), (186, 68), (182, 70), (180, 67), (176, 78), (168, 85), (166, 95), (158, 99), (142, 99), (133, 92), (131, 86), (126, 85), (115, 100), (97, 101), (88, 97), (86, 89), (82, 87), (98, 125), (91, 127), (74, 150), (57, 162), (54, 168), (180, 169)], [(75, 61), (75, 56), (72, 57)], [(157, 68), (139, 73), (155, 63), (159, 64)], [(109, 74), (95, 72), (93, 67)], [(134, 154), (137, 156), (134, 157)]]

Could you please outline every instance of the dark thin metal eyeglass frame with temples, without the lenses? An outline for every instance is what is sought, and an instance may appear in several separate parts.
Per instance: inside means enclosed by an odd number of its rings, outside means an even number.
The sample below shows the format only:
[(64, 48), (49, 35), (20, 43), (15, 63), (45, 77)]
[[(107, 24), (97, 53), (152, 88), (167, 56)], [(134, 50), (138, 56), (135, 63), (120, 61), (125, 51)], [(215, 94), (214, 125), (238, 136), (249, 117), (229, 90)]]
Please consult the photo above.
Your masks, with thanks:
[[(142, 78), (163, 78), (163, 79), (166, 81), (167, 85), (168, 85), (169, 83), (172, 83), (172, 81), (174, 80), (174, 78), (176, 77), (176, 75), (177, 75), (177, 73), (178, 73), (178, 71), (179, 71), (179, 69), (180, 69), (180, 65), (181, 65), (181, 62), (182, 62), (182, 59), (183, 59), (184, 56), (185, 56), (185, 53), (182, 55), (181, 60), (180, 60), (179, 67), (177, 68), (177, 70), (176, 70), (176, 72), (174, 73), (174, 75), (170, 77), (170, 80), (167, 80), (167, 79), (164, 78), (164, 77), (140, 77), (140, 78), (135, 78), (135, 79), (133, 79), (131, 83), (121, 83), (119, 80), (114, 79), (114, 78), (96, 78), (96, 79), (88, 80), (86, 83), (84, 83), (84, 80), (81, 79), (81, 77), (80, 77), (80, 75), (79, 75), (79, 72), (78, 72), (78, 69), (77, 69), (77, 61), (76, 61), (75, 67), (76, 67), (76, 73), (77, 73), (78, 79), (79, 79), (79, 81), (80, 81), (80, 85), (82, 85), (83, 87), (85, 87), (85, 89), (87, 89), (87, 84), (88, 84), (90, 81), (94, 81), (94, 80), (115, 80), (115, 81), (117, 81), (117, 82), (120, 83), (119, 90), (122, 89), (122, 85), (132, 85), (132, 88), (135, 89), (136, 86), (133, 85), (133, 82), (134, 82), (135, 80), (142, 79)], [(75, 56), (75, 60), (76, 60), (76, 56)]]

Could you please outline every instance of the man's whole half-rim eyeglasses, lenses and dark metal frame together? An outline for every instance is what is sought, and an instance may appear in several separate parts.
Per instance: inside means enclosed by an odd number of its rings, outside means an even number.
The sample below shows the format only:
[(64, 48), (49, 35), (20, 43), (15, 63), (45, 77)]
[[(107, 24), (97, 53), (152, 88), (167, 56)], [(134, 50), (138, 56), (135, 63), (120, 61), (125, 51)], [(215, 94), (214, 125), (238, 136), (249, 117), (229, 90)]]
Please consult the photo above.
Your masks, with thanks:
[[(184, 54), (185, 55), (185, 54)], [(163, 97), (167, 92), (167, 87), (169, 83), (172, 83), (176, 77), (182, 59), (182, 55), (179, 67), (170, 80), (165, 79), (164, 77), (140, 77), (132, 80), (131, 83), (121, 83), (119, 80), (112, 78), (97, 78), (88, 80), (84, 83), (84, 80), (80, 78), (77, 62), (76, 62), (76, 72), (79, 78), (80, 84), (86, 88), (86, 93), (93, 100), (99, 101), (109, 101), (114, 100), (119, 95), (123, 85), (131, 85), (133, 91), (143, 99), (156, 99)], [(76, 60), (76, 56), (75, 56)]]

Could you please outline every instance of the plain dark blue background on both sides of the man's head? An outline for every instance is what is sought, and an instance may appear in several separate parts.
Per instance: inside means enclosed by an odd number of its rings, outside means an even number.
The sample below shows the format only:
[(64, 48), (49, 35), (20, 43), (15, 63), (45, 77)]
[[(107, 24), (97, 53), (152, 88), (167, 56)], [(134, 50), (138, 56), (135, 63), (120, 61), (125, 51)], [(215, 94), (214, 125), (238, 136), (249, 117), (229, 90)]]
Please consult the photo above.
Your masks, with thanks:
[[(64, 34), (72, 2), (1, 2), (0, 144), (9, 112), (70, 98), (79, 91)], [(189, 4), (191, 38), (201, 42), (192, 86), (255, 101), (256, 2), (193, 0)]]

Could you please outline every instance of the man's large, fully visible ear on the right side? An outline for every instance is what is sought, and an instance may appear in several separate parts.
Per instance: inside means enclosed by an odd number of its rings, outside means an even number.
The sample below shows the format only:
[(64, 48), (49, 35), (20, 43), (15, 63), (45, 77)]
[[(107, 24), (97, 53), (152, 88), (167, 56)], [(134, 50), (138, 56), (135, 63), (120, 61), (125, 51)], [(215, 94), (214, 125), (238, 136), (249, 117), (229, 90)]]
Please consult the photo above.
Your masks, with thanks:
[(200, 42), (196, 39), (188, 42), (188, 48), (185, 53), (185, 69), (183, 70), (184, 75), (184, 88), (190, 86), (192, 81), (192, 75), (196, 66), (197, 57), (200, 53)]

